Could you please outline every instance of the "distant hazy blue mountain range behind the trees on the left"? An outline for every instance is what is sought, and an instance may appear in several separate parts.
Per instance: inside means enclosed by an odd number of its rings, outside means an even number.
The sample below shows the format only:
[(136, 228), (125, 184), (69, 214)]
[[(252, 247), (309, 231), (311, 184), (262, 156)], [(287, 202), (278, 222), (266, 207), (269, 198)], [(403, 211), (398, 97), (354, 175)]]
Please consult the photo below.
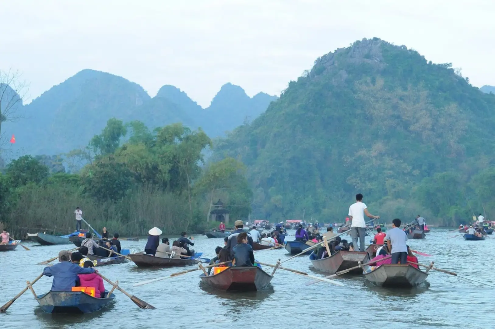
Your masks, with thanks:
[[(254, 119), (277, 99), (260, 94), (263, 97), (258, 94), (249, 98), (241, 87), (228, 83), (212, 105), (202, 109), (174, 86), (163, 86), (151, 98), (134, 82), (85, 69), (19, 109), (16, 114), (21, 118), (3, 124), (2, 134), (15, 135), (14, 156), (55, 155), (84, 147), (112, 117), (126, 122), (140, 120), (151, 129), (181, 122), (191, 129), (201, 127), (210, 137), (218, 137), (246, 118)], [(228, 102), (215, 106), (218, 97)]]

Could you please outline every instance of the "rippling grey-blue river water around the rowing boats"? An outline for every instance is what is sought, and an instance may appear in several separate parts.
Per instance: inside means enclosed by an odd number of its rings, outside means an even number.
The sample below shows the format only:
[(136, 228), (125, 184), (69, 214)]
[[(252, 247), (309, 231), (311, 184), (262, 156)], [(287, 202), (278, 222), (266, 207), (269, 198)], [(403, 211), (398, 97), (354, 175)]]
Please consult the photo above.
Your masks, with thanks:
[[(464, 241), (462, 236), (433, 229), (424, 240), (410, 240), (412, 249), (434, 255), (418, 256), (429, 264), (495, 285), (493, 251), (495, 236), (484, 241)], [(294, 236), (289, 237), (292, 239)], [(350, 241), (350, 238), (348, 238)], [(196, 251), (214, 256), (223, 239), (195, 236)], [(141, 251), (146, 240), (122, 241), (122, 248)], [(66, 246), (36, 246), (31, 251), (18, 247), (0, 253), (0, 305), (3, 305), (44, 269), (36, 263), (52, 258)], [(290, 257), (285, 249), (255, 253), (261, 262), (275, 264)], [(307, 256), (290, 260), (284, 267), (314, 272)], [(193, 268), (193, 267), (189, 267)], [(203, 286), (192, 272), (163, 281), (133, 287), (132, 284), (170, 275), (186, 268), (140, 269), (134, 263), (99, 268), (110, 280), (156, 307), (139, 309), (127, 296), (116, 292), (116, 301), (106, 311), (89, 315), (49, 315), (41, 311), (28, 290), (6, 314), (0, 314), (0, 328), (494, 328), (495, 288), (482, 286), (449, 274), (431, 271), (425, 286), (412, 290), (391, 290), (367, 284), (363, 277), (340, 277), (346, 286), (326, 282), (305, 285), (310, 279), (278, 270), (270, 285), (256, 293), (221, 292)], [(266, 269), (265, 269), (266, 270)], [(271, 271), (271, 269), (269, 270)], [(269, 272), (271, 273), (271, 272)], [(43, 277), (34, 286), (37, 294), (47, 292), (51, 278)], [(111, 286), (105, 282), (105, 287)]]

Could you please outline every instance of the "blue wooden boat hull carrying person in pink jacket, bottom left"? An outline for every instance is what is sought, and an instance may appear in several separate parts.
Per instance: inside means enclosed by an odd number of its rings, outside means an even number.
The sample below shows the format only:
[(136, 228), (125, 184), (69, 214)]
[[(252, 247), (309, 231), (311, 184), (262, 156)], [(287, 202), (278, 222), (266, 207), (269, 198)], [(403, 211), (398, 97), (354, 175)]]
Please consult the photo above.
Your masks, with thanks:
[(49, 291), (36, 296), (45, 313), (91, 313), (113, 303), (115, 295), (96, 298), (81, 291)]

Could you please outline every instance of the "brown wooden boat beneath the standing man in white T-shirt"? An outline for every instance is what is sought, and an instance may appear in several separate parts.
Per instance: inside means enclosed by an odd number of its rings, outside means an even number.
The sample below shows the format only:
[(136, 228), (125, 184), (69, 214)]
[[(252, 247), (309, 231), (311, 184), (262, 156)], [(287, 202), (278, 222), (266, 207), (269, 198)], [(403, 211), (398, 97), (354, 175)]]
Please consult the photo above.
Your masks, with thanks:
[[(311, 255), (311, 256), (314, 256)], [(311, 259), (313, 267), (321, 272), (326, 272), (330, 274), (335, 274), (339, 271), (344, 271), (352, 267), (358, 266), (357, 262), (361, 264), (368, 263), (370, 261), (370, 256), (366, 251), (338, 251), (330, 257), (323, 259)], [(362, 274), (363, 270), (357, 268), (356, 270), (350, 271), (348, 274)]]

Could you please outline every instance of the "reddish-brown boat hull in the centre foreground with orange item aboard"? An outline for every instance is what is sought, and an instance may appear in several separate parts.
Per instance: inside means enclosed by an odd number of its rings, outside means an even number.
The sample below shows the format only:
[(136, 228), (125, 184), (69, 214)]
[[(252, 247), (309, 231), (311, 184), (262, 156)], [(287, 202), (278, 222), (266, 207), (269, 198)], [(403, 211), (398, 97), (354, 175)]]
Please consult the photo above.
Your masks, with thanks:
[(199, 276), (207, 285), (220, 290), (257, 291), (265, 288), (273, 276), (259, 267), (229, 267), (215, 275)]

